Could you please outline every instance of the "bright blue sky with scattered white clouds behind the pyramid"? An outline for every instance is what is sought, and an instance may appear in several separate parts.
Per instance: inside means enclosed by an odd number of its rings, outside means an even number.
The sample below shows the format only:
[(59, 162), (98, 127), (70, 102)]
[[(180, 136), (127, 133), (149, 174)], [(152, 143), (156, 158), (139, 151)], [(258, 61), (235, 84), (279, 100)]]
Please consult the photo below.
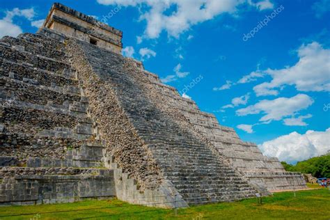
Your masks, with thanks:
[[(330, 149), (329, 0), (60, 2), (122, 30), (125, 56), (266, 155), (294, 163)], [(52, 6), (0, 3), (1, 36), (36, 32)]]

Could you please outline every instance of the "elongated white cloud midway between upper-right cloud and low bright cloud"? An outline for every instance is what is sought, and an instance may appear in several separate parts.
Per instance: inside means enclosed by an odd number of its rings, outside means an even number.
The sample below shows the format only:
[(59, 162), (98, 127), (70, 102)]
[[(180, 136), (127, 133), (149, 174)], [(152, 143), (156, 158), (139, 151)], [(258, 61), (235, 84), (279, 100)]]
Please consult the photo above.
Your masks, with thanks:
[(261, 100), (256, 104), (250, 105), (244, 109), (238, 109), (238, 116), (264, 113), (265, 116), (260, 121), (269, 123), (272, 120), (282, 120), (288, 116), (294, 116), (302, 109), (306, 109), (314, 100), (305, 94), (298, 94), (294, 97), (278, 97), (275, 100)]

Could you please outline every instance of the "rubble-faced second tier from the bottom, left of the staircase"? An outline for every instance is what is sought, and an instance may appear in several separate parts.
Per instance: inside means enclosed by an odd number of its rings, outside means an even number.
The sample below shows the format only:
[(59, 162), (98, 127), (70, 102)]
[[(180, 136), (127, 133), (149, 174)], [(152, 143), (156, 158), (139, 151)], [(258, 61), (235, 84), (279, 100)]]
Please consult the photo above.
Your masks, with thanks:
[[(100, 161), (103, 149), (100, 141), (0, 133), (0, 157), (3, 157), (1, 166), (10, 162), (15, 162), (16, 166), (26, 166), (27, 160), (33, 157)], [(79, 158), (79, 155), (91, 155), (91, 158)]]

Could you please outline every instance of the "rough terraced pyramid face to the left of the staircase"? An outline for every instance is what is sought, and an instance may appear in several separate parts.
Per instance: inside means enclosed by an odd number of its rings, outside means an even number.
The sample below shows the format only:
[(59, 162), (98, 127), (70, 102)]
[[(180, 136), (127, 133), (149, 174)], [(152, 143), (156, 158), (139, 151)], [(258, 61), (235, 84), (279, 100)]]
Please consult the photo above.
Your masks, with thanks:
[(63, 42), (0, 40), (0, 205), (116, 196)]

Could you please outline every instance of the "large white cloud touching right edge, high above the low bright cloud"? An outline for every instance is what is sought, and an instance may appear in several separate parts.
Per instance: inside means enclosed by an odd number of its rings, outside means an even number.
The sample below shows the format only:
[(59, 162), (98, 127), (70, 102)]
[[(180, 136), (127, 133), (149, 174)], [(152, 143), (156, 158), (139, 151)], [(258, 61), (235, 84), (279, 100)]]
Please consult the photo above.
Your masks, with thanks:
[(255, 86), (257, 96), (278, 95), (278, 88), (295, 86), (297, 91), (330, 91), (330, 49), (318, 42), (302, 45), (298, 49), (299, 61), (281, 70), (263, 71), (273, 79)]

